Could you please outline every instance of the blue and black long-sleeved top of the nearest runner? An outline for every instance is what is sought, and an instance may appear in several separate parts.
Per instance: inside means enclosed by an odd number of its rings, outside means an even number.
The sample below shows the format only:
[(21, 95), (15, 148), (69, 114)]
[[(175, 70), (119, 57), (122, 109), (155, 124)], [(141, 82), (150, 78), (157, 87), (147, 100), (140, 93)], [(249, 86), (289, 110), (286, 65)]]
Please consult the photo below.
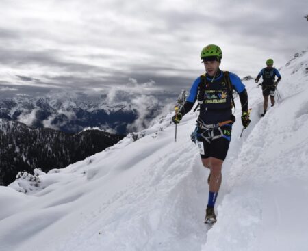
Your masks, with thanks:
[(231, 89), (238, 92), (242, 105), (242, 111), (248, 111), (248, 96), (245, 85), (240, 78), (232, 72), (222, 72), (218, 69), (215, 77), (207, 74), (198, 77), (192, 84), (190, 94), (185, 104), (180, 109), (182, 115), (187, 114), (194, 103), (200, 103), (200, 114), (198, 118), (205, 124), (217, 124), (227, 120), (234, 120), (232, 114), (232, 93)]

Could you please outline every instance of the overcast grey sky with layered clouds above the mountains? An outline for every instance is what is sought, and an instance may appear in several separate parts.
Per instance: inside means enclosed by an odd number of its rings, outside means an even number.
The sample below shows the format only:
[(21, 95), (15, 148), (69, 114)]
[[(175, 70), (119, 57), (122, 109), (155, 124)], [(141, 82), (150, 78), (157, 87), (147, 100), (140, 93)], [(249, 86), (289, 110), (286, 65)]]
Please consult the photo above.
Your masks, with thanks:
[(307, 0), (1, 0), (0, 91), (179, 93), (207, 44), (222, 70), (255, 77), (308, 49), (306, 14)]

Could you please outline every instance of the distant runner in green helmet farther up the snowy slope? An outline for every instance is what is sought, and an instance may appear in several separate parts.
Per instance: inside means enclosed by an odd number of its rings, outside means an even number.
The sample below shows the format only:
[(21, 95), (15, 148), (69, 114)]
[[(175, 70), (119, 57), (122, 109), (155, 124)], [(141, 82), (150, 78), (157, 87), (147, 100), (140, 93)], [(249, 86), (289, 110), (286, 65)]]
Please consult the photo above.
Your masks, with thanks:
[[(270, 103), (274, 106), (275, 103), (275, 91), (279, 81), (281, 81), (281, 75), (276, 68), (273, 68), (272, 65), (274, 64), (274, 60), (271, 58), (266, 60), (266, 68), (263, 68), (257, 78), (255, 79), (255, 83), (259, 82), (260, 77), (262, 76), (263, 82), (259, 85), (262, 85), (262, 94), (264, 97), (263, 109), (264, 112), (261, 114), (263, 117), (266, 114), (266, 110), (268, 109), (268, 96), (270, 96)], [(277, 81), (275, 82), (275, 76), (278, 77)], [(259, 86), (258, 85), (258, 86)]]

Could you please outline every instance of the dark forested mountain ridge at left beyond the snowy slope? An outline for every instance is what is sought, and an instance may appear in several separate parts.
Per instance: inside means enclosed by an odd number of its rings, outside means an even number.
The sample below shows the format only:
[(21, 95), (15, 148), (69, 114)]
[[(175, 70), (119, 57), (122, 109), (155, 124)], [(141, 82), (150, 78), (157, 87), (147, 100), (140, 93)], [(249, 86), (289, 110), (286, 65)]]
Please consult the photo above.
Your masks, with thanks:
[(100, 130), (72, 134), (47, 128), (33, 129), (0, 118), (0, 185), (12, 183), (18, 172), (64, 168), (101, 152), (123, 137)]

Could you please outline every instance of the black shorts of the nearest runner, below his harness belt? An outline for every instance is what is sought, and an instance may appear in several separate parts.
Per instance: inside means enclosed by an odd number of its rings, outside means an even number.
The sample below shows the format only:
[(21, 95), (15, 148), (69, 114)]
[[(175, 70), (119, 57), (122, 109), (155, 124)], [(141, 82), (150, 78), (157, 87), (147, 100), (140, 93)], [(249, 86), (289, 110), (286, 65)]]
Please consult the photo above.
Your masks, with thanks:
[[(221, 137), (211, 140), (211, 131), (205, 129), (198, 129), (197, 144), (200, 150), (201, 159), (207, 159), (208, 157), (214, 157), (224, 161), (227, 157), (229, 144), (231, 141), (231, 124), (226, 124), (219, 129), (213, 130), (214, 137), (221, 135)], [(209, 137), (207, 137), (209, 136)], [(207, 139), (207, 140), (206, 140)]]

